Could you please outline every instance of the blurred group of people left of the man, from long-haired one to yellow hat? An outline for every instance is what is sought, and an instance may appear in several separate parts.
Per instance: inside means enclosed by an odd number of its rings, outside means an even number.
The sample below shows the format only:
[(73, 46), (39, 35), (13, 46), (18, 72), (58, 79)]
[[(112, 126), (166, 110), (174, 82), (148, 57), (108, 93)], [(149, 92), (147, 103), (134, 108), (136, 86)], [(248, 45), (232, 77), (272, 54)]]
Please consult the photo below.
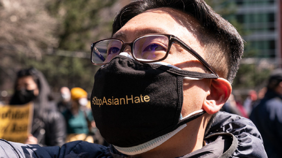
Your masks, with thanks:
[(27, 144), (61, 146), (65, 142), (84, 140), (106, 144), (95, 126), (88, 93), (82, 88), (61, 87), (60, 100), (51, 97), (49, 84), (35, 68), (17, 73), (10, 105), (33, 103), (33, 120)]

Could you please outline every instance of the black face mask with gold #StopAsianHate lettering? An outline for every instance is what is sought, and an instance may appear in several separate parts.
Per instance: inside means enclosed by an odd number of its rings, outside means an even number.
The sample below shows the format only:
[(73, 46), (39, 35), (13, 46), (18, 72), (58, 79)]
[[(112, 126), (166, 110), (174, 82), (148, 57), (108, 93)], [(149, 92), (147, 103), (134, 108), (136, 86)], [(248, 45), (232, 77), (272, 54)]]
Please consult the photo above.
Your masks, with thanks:
[(131, 147), (169, 133), (199, 116), (180, 119), (183, 78), (218, 78), (116, 56), (95, 75), (91, 107), (108, 143)]

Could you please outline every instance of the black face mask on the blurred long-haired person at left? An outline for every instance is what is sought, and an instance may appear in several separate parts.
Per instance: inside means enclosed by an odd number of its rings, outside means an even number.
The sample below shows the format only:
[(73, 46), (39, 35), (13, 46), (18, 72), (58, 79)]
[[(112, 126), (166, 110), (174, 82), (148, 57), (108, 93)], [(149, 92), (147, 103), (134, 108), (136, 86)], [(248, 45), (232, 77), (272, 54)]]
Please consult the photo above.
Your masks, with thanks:
[(26, 104), (35, 98), (34, 90), (27, 90), (27, 89), (17, 90), (15, 92), (15, 96), (18, 99), (18, 103), (20, 104)]

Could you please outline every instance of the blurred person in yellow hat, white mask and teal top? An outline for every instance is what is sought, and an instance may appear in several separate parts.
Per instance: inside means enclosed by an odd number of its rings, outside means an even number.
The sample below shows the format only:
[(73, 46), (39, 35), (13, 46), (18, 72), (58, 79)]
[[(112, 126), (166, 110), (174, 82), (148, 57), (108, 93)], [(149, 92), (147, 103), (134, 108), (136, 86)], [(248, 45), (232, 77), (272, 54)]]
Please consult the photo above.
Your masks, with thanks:
[(86, 105), (88, 104), (87, 92), (82, 88), (76, 87), (70, 90), (71, 104), (70, 109), (63, 112), (67, 126), (66, 141), (85, 140), (94, 142), (90, 136), (91, 122), (93, 115)]

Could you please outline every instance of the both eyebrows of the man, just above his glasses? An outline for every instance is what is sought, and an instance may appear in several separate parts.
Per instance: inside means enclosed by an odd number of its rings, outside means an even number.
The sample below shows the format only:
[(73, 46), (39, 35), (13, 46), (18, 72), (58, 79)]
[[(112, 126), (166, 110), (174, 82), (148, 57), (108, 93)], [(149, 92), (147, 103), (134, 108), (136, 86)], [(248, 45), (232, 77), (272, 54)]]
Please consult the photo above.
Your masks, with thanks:
[[(135, 37), (139, 37), (139, 36), (146, 35), (146, 34), (167, 34), (167, 31), (163, 29), (144, 29), (144, 30), (137, 31), (135, 33)], [(112, 38), (123, 40), (127, 38), (127, 34), (125, 34), (124, 32), (117, 32), (112, 36)]]

